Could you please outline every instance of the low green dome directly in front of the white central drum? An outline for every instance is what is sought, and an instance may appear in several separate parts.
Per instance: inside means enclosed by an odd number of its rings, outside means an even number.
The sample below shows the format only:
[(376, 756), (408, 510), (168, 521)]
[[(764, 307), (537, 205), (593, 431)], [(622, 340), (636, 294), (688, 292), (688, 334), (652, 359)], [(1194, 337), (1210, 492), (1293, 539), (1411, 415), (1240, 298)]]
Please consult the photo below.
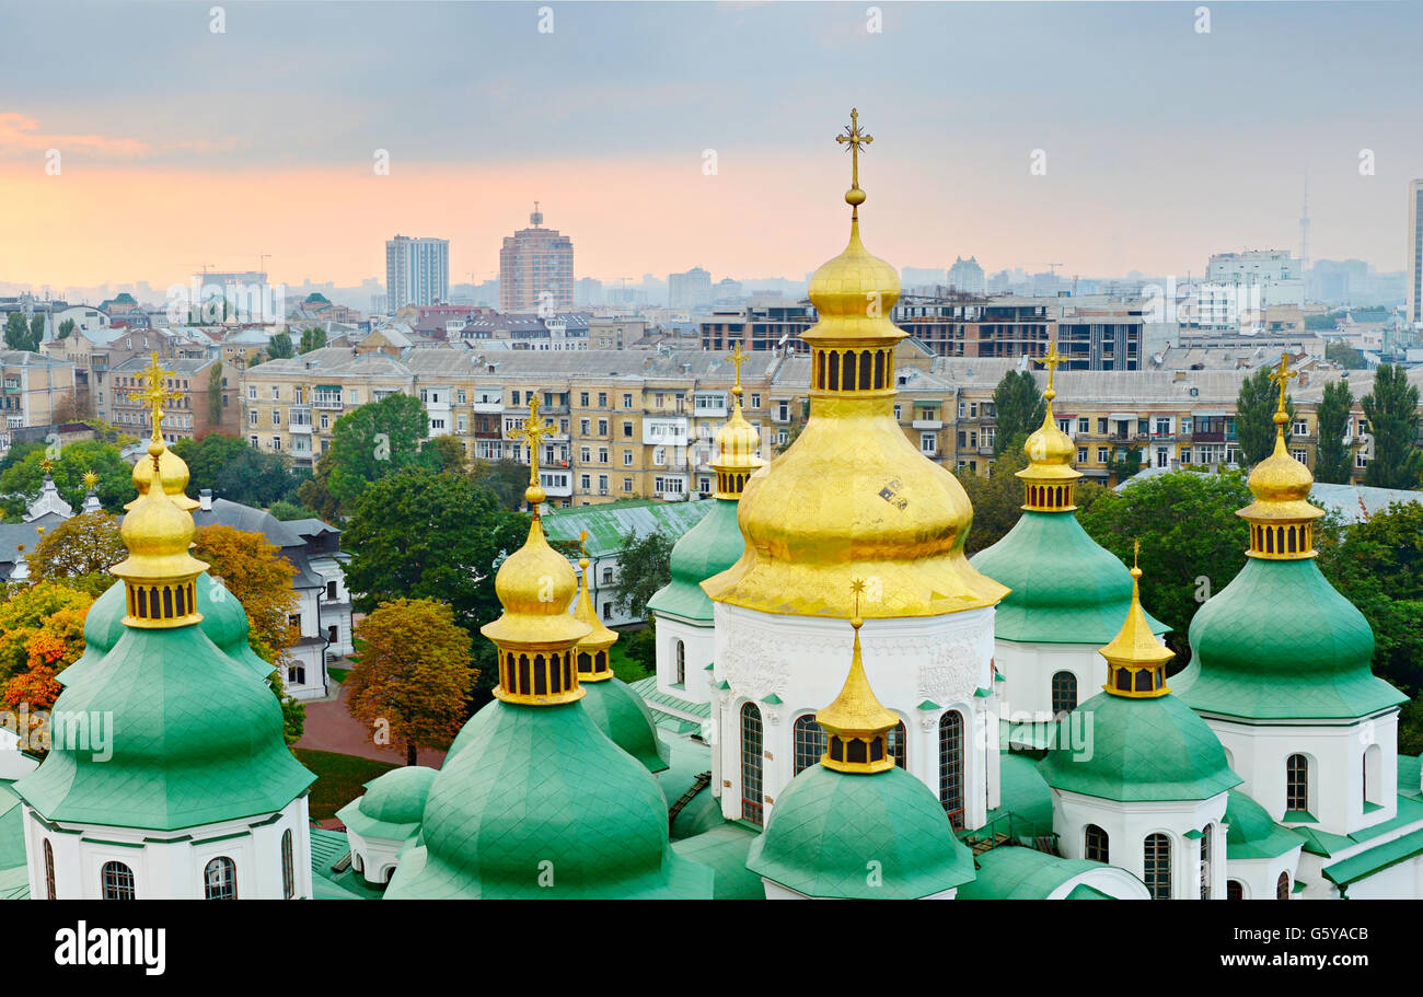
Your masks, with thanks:
[[(879, 885), (869, 862), (881, 863)], [(807, 768), (776, 801), (746, 865), (814, 897), (912, 900), (973, 879), (973, 856), (943, 806), (902, 768)]]

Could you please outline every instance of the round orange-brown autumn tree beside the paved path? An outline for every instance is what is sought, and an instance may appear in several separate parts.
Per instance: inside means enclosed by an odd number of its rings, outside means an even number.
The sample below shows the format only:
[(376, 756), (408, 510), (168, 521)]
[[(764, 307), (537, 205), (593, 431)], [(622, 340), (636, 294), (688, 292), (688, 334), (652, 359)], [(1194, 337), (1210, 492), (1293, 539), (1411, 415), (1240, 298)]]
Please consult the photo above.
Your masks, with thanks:
[(356, 667), (346, 678), (347, 708), (357, 720), (388, 724), (416, 764), (421, 744), (447, 747), (468, 714), (477, 673), (470, 634), (435, 599), (383, 602), (356, 624)]

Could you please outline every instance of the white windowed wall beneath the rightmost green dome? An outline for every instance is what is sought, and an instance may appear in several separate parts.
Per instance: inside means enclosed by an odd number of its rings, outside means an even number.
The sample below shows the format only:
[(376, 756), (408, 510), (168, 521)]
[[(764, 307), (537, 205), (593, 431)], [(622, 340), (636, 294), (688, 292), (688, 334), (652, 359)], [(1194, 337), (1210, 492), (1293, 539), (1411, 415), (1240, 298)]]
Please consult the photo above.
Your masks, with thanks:
[[(1397, 815), (1397, 710), (1338, 724), (1244, 724), (1202, 715), (1225, 745), (1231, 768), (1245, 779), (1238, 788), (1271, 819), (1284, 822), (1285, 765), (1295, 754), (1309, 761), (1309, 814), (1316, 822), (1308, 826), (1349, 835)], [(1370, 747), (1377, 748), (1377, 762), (1369, 775), (1369, 795), (1379, 808), (1365, 812), (1365, 752)]]

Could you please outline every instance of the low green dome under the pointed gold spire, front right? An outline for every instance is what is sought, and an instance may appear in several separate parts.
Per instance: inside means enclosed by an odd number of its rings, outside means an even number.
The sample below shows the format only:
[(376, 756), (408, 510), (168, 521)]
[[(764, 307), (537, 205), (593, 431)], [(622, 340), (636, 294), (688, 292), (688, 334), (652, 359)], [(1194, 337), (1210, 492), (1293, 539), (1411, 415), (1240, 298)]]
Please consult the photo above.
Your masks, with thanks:
[[(1174, 695), (1127, 698), (1100, 693), (1077, 707), (1069, 731), (1039, 762), (1054, 789), (1100, 799), (1210, 799), (1241, 784), (1215, 732)], [(1090, 724), (1090, 725), (1089, 725)]]

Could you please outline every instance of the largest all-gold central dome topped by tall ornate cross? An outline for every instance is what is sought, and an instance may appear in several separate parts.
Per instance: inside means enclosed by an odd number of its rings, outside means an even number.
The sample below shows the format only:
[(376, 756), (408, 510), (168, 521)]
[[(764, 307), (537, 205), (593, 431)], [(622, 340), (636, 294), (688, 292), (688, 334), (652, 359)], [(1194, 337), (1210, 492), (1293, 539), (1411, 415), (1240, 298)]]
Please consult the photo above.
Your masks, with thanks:
[(973, 508), (949, 471), (924, 457), (894, 417), (891, 321), (899, 279), (859, 239), (858, 112), (840, 135), (851, 152), (850, 243), (810, 283), (818, 321), (810, 418), (795, 442), (741, 494), (746, 549), (704, 580), (713, 602), (790, 616), (851, 616), (851, 565), (872, 579), (864, 616), (939, 616), (992, 606), (1007, 589), (963, 556)]

